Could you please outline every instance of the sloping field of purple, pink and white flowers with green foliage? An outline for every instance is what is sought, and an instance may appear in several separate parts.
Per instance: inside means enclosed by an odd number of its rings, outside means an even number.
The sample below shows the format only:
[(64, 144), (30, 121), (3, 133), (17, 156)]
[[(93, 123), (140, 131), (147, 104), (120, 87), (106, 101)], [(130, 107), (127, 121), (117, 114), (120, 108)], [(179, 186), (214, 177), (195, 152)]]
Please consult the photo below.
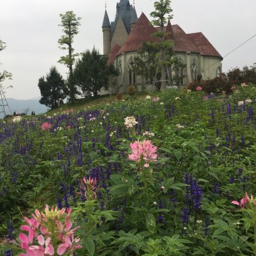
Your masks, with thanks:
[(255, 109), (249, 84), (1, 120), (0, 254), (256, 255)]

